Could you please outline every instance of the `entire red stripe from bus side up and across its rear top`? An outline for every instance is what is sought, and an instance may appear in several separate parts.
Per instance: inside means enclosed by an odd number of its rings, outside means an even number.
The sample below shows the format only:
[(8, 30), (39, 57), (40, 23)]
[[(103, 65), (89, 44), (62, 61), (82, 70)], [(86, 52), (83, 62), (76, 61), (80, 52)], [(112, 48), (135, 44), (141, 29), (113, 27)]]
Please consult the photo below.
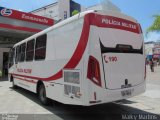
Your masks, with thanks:
[[(126, 24), (132, 24), (135, 25), (136, 28), (128, 28), (125, 26), (117, 26), (117, 25), (109, 25), (106, 23), (102, 23), (102, 19), (113, 19), (113, 20), (119, 20), (120, 22), (125, 22)], [(77, 48), (71, 57), (71, 59), (68, 61), (68, 63), (61, 69), (59, 70), (56, 74), (48, 77), (48, 78), (39, 78), (39, 77), (34, 77), (34, 76), (27, 76), (27, 75), (19, 75), (19, 74), (14, 74), (10, 73), (12, 75), (16, 76), (21, 76), (21, 77), (26, 77), (26, 78), (31, 78), (31, 79), (37, 79), (37, 80), (43, 80), (43, 81), (52, 81), (52, 80), (58, 80), (63, 77), (63, 69), (74, 69), (79, 62), (82, 59), (82, 56), (84, 54), (84, 51), (87, 47), (88, 43), (88, 37), (89, 37), (89, 31), (90, 31), (90, 25), (95, 25), (98, 27), (105, 27), (105, 28), (115, 28), (115, 29), (121, 29), (121, 30), (126, 30), (134, 33), (140, 33), (139, 31), (139, 25), (137, 23), (134, 23), (129, 20), (125, 20), (122, 18), (117, 18), (117, 17), (112, 17), (112, 16), (105, 16), (105, 15), (98, 15), (95, 13), (90, 13), (85, 15), (84, 17), (84, 24), (83, 24), (83, 29), (82, 29), (82, 34), (79, 40), (79, 43), (77, 45)], [(138, 27), (137, 27), (138, 26)]]

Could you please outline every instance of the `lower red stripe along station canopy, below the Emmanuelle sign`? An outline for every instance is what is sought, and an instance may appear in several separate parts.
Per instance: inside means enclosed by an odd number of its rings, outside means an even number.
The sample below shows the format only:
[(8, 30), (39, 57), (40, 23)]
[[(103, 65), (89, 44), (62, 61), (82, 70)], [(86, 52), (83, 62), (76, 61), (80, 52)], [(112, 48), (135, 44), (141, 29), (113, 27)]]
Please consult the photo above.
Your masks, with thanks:
[(0, 28), (8, 28), (8, 29), (22, 30), (22, 31), (28, 31), (28, 32), (35, 32), (35, 33), (42, 31), (39, 29), (3, 24), (3, 23), (0, 23)]

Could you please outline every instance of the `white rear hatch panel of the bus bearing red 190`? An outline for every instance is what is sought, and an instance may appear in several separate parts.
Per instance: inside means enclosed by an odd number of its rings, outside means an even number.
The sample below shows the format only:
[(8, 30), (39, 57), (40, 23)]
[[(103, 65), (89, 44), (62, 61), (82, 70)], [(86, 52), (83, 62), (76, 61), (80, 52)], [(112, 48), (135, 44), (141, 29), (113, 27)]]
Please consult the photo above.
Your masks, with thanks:
[[(106, 50), (104, 48), (104, 52), (101, 53), (106, 87), (108, 89), (121, 89), (125, 87), (125, 82), (130, 86), (143, 83), (145, 57), (142, 35), (110, 28), (99, 29), (98, 31), (101, 44), (108, 48)], [(122, 48), (116, 48), (117, 45)], [(121, 49), (126, 50), (123, 52)]]

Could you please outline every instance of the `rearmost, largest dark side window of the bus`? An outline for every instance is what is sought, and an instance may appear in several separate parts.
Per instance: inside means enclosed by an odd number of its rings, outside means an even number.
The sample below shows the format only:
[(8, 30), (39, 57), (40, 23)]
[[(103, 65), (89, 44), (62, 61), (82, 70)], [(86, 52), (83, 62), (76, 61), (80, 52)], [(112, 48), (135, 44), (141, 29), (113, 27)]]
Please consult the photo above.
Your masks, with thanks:
[(35, 46), (35, 60), (44, 60), (46, 58), (47, 35), (37, 37)]

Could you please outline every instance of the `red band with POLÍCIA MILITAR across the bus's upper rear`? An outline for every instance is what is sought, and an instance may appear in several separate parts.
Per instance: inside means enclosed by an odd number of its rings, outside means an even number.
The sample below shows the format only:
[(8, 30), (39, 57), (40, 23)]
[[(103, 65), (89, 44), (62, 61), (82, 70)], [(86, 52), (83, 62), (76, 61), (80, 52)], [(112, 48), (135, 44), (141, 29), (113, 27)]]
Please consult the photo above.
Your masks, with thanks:
[(120, 29), (137, 34), (142, 33), (141, 27), (138, 23), (123, 18), (90, 13), (90, 18), (91, 17), (91, 25), (105, 28)]

